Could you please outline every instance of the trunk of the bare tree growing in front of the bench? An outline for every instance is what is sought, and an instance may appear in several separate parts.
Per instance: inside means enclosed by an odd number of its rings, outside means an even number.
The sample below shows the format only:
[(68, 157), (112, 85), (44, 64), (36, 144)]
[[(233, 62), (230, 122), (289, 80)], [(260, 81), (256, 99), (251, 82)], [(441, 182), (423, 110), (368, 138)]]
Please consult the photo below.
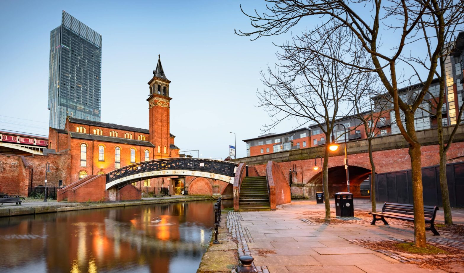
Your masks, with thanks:
[[(405, 113), (406, 114), (406, 113)], [(420, 159), (420, 143), (417, 141), (414, 130), (414, 113), (406, 115), (406, 129), (415, 141), (409, 144), (409, 156), (411, 158), (412, 174), (412, 200), (414, 204), (414, 246), (426, 247), (424, 198), (422, 197), (422, 168)]]

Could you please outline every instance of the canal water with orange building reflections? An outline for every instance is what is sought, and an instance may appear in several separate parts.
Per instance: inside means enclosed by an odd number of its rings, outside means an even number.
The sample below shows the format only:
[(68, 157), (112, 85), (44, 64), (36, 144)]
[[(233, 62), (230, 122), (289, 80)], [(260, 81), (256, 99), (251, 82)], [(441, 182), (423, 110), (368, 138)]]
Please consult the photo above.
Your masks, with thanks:
[(194, 273), (211, 240), (213, 203), (0, 217), (0, 272)]

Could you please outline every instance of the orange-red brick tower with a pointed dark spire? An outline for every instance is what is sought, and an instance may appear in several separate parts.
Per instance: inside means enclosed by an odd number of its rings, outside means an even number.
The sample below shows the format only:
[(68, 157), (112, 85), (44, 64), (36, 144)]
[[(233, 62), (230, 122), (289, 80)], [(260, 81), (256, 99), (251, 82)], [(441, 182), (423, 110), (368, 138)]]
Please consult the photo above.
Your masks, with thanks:
[(153, 71), (153, 78), (148, 82), (150, 93), (147, 99), (149, 111), (149, 141), (155, 145), (155, 159), (170, 157), (169, 135), (169, 83), (161, 66), (160, 55), (158, 64)]

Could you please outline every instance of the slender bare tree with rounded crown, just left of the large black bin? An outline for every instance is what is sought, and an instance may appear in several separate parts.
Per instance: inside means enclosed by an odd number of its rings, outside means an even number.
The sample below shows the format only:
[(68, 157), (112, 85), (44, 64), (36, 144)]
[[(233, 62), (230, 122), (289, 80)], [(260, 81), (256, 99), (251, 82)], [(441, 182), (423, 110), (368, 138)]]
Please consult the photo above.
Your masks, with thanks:
[[(319, 35), (323, 31), (321, 29)], [(339, 29), (333, 35), (334, 39), (316, 44), (319, 51), (337, 58), (358, 58), (354, 62), (363, 61), (362, 56), (348, 56), (342, 50), (341, 44), (352, 39), (350, 32)], [(294, 37), (292, 43), (280, 46), (282, 52), (277, 53), (277, 57), (281, 63), (275, 69), (268, 66), (266, 73), (262, 71), (266, 89), (258, 92), (259, 107), (263, 107), (272, 118), (273, 122), (267, 128), (273, 128), (288, 118), (295, 118), (300, 125), (313, 122), (329, 143), (335, 120), (343, 116), (339, 102), (349, 94), (353, 83), (362, 74), (354, 67), (305, 50), (311, 39), (303, 33)], [(322, 166), (326, 219), (330, 219), (328, 160), (329, 145), (326, 145)]]

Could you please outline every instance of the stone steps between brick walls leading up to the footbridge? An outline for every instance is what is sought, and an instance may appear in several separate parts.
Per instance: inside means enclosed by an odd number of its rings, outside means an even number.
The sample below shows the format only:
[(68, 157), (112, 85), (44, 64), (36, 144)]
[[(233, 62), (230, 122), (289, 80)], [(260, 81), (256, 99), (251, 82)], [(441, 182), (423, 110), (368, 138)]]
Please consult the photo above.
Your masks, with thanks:
[(265, 176), (251, 176), (243, 179), (238, 208), (241, 211), (271, 210)]

